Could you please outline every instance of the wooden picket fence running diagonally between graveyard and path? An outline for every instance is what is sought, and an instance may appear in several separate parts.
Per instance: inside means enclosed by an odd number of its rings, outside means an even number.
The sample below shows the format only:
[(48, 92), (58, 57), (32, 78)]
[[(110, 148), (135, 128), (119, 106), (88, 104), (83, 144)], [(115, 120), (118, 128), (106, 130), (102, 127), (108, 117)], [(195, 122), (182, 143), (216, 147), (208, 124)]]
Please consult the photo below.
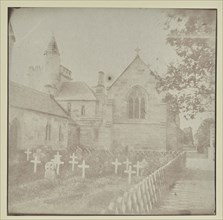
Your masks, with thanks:
[(123, 196), (112, 201), (104, 214), (131, 215), (149, 214), (157, 207), (163, 196), (175, 183), (178, 174), (185, 167), (186, 153), (179, 153), (166, 165), (134, 185)]

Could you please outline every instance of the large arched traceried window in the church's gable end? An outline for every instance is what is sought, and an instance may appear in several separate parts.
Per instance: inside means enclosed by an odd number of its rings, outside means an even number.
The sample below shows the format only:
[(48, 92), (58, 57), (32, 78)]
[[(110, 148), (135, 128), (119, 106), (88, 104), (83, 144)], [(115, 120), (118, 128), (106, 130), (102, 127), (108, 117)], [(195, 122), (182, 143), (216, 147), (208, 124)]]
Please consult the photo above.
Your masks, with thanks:
[(146, 118), (146, 100), (147, 93), (140, 86), (132, 88), (128, 97), (128, 118), (145, 119)]

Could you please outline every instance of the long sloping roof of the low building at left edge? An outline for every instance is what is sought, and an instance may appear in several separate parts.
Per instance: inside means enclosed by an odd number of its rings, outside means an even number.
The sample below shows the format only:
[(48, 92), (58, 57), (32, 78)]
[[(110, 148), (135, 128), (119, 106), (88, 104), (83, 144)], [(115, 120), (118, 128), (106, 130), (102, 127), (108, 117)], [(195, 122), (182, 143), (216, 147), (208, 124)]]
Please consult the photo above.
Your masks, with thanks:
[(66, 111), (52, 96), (15, 82), (9, 84), (9, 104), (13, 107), (68, 118)]

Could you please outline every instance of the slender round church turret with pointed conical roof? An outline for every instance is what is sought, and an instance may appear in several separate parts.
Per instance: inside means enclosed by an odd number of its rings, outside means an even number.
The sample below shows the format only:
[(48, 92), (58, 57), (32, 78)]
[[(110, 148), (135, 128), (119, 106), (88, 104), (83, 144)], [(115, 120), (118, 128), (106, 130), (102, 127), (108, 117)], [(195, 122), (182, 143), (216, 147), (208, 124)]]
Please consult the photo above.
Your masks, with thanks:
[(55, 95), (60, 83), (60, 53), (54, 36), (51, 37), (44, 56), (45, 91), (51, 95)]

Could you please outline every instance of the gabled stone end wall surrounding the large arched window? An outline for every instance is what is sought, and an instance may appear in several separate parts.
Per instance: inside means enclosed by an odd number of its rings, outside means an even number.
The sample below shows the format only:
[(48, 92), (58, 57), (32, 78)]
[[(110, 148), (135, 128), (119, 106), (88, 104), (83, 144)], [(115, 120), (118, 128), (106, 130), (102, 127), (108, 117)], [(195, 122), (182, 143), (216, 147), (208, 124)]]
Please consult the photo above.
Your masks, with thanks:
[[(145, 99), (145, 117), (129, 118), (129, 97), (134, 89)], [(166, 150), (167, 105), (156, 91), (151, 70), (136, 57), (108, 89), (112, 100), (112, 146)]]

